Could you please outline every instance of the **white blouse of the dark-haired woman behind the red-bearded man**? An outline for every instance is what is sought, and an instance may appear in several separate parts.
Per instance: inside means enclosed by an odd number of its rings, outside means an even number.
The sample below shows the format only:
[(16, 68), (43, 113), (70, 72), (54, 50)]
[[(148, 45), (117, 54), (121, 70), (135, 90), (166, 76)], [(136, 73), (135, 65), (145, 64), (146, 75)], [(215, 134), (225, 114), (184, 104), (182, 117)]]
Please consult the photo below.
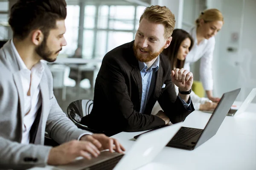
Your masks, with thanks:
[[(176, 85), (175, 85), (175, 92), (176, 92), (177, 95), (179, 94), (179, 88)], [(200, 108), (201, 104), (204, 104), (205, 102), (210, 102), (210, 100), (208, 98), (205, 98), (205, 97), (201, 98), (198, 95), (196, 95), (194, 91), (191, 92), (190, 97), (191, 97), (191, 100), (193, 102), (193, 105), (194, 105), (194, 108), (195, 108), (196, 111), (199, 111), (199, 108)], [(163, 111), (163, 109), (161, 108), (159, 103), (156, 102), (152, 111), (151, 111), (151, 114), (155, 115), (160, 110)]]

